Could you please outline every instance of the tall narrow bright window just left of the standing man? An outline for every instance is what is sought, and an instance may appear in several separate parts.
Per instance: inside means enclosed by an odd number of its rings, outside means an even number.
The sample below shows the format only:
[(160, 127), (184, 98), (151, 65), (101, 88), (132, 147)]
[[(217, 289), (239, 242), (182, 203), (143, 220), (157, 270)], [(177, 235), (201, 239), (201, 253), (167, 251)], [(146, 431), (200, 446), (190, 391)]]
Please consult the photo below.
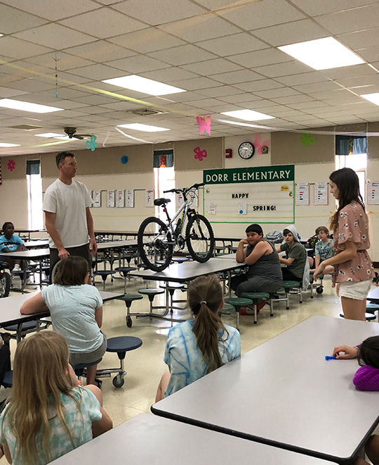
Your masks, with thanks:
[(44, 229), (39, 160), (27, 160), (27, 211), (29, 229)]

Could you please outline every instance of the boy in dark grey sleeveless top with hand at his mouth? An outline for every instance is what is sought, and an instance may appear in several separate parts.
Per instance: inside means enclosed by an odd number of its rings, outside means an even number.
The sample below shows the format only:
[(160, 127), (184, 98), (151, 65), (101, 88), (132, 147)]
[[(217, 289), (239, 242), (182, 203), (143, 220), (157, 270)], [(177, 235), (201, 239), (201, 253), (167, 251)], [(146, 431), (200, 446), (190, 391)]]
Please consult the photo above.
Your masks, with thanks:
[(282, 276), (277, 250), (270, 241), (263, 239), (259, 224), (251, 224), (245, 232), (246, 239), (239, 241), (236, 260), (248, 265), (248, 269), (245, 274), (232, 277), (233, 291), (238, 297), (244, 292), (279, 291)]

